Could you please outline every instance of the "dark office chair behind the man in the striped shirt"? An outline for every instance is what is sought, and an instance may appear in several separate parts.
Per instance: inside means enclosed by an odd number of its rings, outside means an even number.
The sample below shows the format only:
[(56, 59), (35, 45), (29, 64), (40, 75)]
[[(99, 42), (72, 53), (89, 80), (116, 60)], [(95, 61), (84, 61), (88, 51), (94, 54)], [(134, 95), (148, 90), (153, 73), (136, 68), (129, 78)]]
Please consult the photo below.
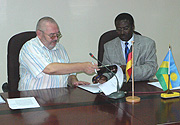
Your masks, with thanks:
[(8, 42), (7, 72), (8, 82), (2, 85), (3, 92), (17, 91), (19, 76), (19, 52), (25, 42), (36, 37), (35, 31), (21, 32), (12, 36)]

